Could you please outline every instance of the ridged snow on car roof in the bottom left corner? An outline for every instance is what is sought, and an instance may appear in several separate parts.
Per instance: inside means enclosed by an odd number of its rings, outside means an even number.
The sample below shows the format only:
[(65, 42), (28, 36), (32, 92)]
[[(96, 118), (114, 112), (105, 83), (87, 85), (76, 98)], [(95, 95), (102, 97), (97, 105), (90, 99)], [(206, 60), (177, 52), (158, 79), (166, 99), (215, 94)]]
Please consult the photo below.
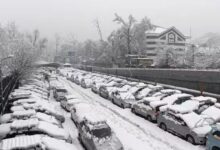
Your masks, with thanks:
[(26, 149), (40, 145), (41, 135), (21, 135), (14, 138), (4, 139), (1, 142), (1, 150)]

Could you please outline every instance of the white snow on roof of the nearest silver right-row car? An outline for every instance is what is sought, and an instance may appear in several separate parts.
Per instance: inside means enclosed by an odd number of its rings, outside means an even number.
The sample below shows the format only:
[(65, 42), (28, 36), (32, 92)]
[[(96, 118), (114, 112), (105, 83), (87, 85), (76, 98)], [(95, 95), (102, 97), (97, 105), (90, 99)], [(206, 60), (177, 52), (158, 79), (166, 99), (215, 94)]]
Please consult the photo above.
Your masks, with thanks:
[(171, 105), (168, 107), (168, 110), (175, 113), (189, 113), (199, 108), (199, 102), (188, 100), (183, 102), (180, 105)]

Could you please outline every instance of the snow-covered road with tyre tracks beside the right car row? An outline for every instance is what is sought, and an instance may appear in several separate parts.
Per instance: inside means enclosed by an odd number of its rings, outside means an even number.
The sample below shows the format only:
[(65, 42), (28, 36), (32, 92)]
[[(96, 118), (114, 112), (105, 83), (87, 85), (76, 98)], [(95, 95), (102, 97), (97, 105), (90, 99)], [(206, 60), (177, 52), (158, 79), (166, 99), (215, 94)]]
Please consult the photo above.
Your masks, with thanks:
[(204, 150), (203, 146), (194, 146), (179, 137), (164, 132), (145, 119), (122, 109), (110, 101), (93, 93), (90, 89), (59, 78), (69, 93), (84, 99), (96, 106), (97, 113), (103, 115), (116, 135), (121, 140), (126, 150)]

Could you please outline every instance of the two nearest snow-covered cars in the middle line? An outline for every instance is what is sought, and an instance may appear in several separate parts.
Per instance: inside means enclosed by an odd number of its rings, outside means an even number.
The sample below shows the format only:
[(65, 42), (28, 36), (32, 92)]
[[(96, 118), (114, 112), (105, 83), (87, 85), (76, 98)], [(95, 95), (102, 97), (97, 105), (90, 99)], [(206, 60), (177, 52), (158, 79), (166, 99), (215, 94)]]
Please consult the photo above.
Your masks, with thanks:
[(61, 107), (71, 113), (78, 128), (78, 139), (87, 150), (123, 150), (107, 121), (96, 113), (95, 107), (75, 95), (65, 95)]

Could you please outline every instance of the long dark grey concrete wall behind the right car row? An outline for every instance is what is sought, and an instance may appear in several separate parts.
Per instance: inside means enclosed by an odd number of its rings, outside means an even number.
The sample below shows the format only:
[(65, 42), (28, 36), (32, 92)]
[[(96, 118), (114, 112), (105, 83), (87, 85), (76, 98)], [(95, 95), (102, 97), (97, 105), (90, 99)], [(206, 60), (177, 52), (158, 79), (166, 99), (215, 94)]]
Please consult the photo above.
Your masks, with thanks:
[(220, 71), (216, 70), (99, 67), (89, 70), (220, 94)]

